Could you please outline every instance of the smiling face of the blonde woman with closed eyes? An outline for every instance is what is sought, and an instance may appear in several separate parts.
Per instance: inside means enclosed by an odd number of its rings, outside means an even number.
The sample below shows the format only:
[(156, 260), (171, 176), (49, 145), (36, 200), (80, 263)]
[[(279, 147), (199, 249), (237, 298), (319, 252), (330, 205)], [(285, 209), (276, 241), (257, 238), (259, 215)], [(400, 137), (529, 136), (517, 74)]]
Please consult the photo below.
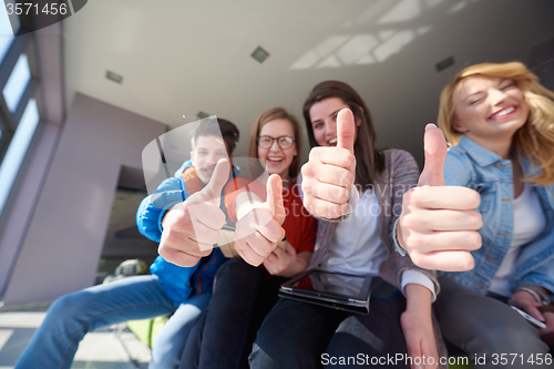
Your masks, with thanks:
[(510, 145), (529, 117), (523, 92), (510, 79), (469, 76), (453, 95), (453, 129), (484, 147)]

